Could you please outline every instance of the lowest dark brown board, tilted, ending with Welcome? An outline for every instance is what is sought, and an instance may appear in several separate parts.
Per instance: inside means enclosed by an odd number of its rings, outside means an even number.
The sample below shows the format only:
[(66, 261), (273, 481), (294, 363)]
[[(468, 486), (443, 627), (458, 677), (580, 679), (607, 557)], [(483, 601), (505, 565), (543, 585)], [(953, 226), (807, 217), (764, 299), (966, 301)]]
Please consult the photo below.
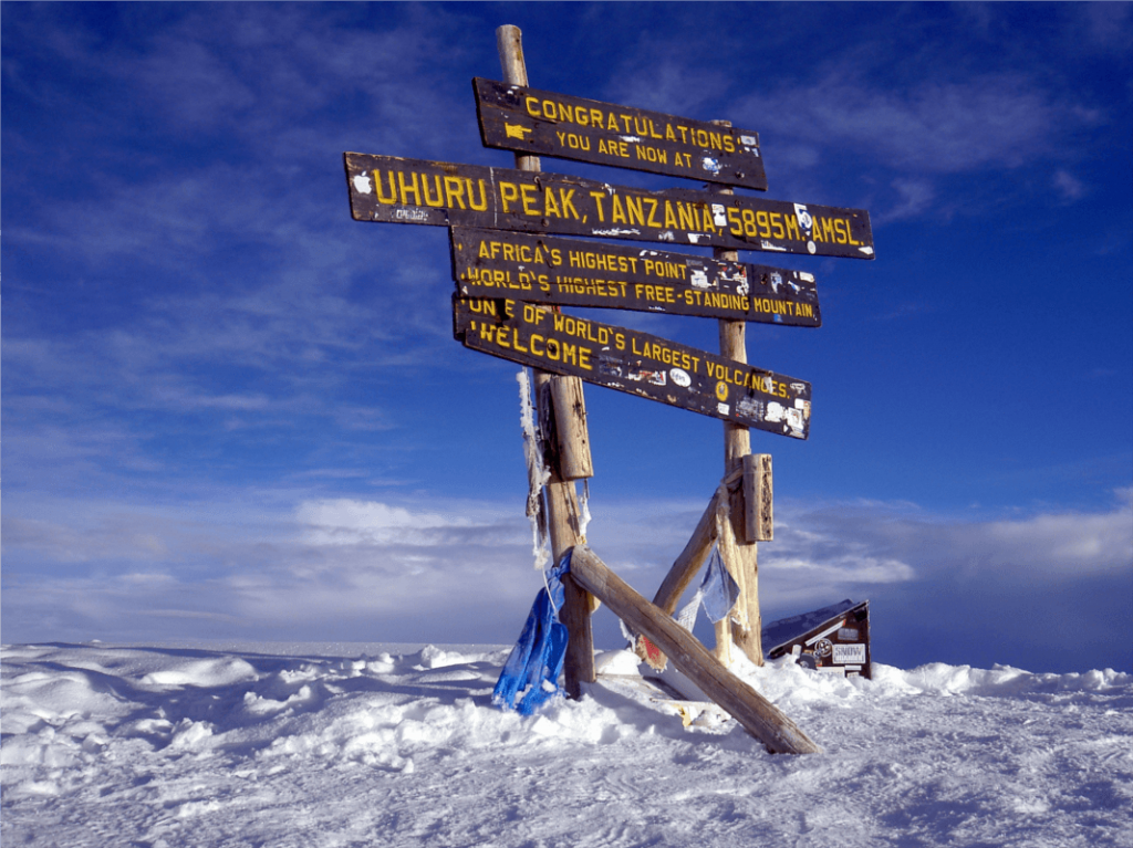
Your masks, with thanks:
[(810, 431), (810, 384), (667, 339), (516, 300), (453, 298), (466, 348), (744, 427)]

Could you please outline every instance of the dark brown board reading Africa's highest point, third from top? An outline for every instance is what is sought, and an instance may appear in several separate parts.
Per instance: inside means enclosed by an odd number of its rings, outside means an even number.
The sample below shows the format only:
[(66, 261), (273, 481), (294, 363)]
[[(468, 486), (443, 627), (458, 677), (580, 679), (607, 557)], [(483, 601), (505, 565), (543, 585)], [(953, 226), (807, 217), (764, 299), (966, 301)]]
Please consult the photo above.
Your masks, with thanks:
[(817, 327), (815, 277), (611, 242), (454, 226), (452, 275), (468, 298), (632, 309)]

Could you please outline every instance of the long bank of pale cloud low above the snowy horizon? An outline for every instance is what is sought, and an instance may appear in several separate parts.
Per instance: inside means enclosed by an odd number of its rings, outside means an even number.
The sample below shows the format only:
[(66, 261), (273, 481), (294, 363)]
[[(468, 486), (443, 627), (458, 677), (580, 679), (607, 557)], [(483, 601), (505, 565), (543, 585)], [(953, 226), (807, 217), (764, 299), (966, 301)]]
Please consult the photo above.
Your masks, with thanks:
[[(267, 500), (276, 505), (202, 502), (172, 511), (75, 502), (33, 506), (34, 519), (7, 512), (5, 637), (45, 637), (36, 635), (45, 633), (43, 622), (67, 634), (60, 637), (121, 639), (131, 628), (177, 637), (194, 634), (191, 622), (204, 616), (229, 637), (506, 642), (542, 584), (519, 503), (324, 498), (287, 507), (279, 494)], [(651, 596), (699, 508), (599, 502), (590, 543)], [(1033, 616), (1042, 603), (1054, 609), (1080, 594), (1089, 581), (1113, 592), (1133, 572), (1130, 491), (1107, 512), (1021, 520), (961, 521), (868, 502), (786, 503), (776, 514), (775, 540), (759, 549), (770, 617), (871, 598), (880, 606), (879, 633), (915, 610), (922, 626), (963, 620), (968, 644), (995, 644), (1017, 616), (1008, 605), (1003, 620), (989, 617), (989, 598), (1031, 598), (1041, 586), (1040, 600), (1026, 607)], [(1083, 602), (1075, 596), (1075, 605)], [(1093, 631), (1121, 639), (1113, 628), (1128, 622), (1107, 617), (1111, 598), (1096, 602)], [(168, 615), (155, 632), (153, 616), (139, 619), (138, 609)], [(1073, 615), (1088, 611), (1075, 606)], [(893, 637), (880, 636), (880, 646), (896, 652)], [(928, 659), (936, 658), (920, 657)]]

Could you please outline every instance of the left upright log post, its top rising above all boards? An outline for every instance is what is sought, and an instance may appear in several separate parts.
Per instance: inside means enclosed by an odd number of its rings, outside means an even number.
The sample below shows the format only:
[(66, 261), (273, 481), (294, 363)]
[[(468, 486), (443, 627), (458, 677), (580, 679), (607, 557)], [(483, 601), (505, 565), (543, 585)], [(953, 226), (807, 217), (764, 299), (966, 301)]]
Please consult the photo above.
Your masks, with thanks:
[[(496, 29), (496, 48), (503, 82), (512, 85), (529, 85), (527, 62), (523, 59), (522, 33), (518, 26), (505, 25)], [(516, 168), (522, 171), (539, 171), (538, 156), (516, 154)], [(535, 399), (538, 409), (550, 409), (554, 418), (540, 421), (544, 432), (557, 434), (557, 445), (551, 462), (551, 480), (545, 489), (547, 507), (547, 531), (551, 536), (551, 553), (554, 562), (576, 545), (585, 545), (579, 523), (578, 497), (573, 480), (594, 474), (590, 462), (590, 440), (586, 429), (586, 408), (582, 401), (582, 384), (578, 377), (559, 377), (533, 369), (535, 372)], [(551, 403), (539, 403), (544, 393), (550, 393)], [(566, 575), (563, 581), (565, 601), (559, 617), (569, 633), (566, 658), (563, 662), (566, 676), (566, 694), (579, 697), (582, 683), (594, 683), (594, 633), (590, 611), (594, 599)]]

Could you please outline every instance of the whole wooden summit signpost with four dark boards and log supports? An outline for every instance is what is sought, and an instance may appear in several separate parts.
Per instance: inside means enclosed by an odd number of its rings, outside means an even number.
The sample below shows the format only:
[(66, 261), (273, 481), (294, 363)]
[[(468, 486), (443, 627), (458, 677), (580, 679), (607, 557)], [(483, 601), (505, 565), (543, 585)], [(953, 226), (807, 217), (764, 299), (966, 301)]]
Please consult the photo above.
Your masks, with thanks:
[[(732, 186), (767, 187), (753, 130), (530, 88), (519, 29), (500, 27), (496, 38), (504, 82), (477, 78), (472, 86), (485, 146), (514, 151), (514, 169), (343, 156), (355, 220), (450, 228), (455, 337), (534, 369), (538, 444), (546, 448), (539, 461), (547, 468), (529, 466), (529, 507), (545, 508), (554, 562), (572, 557), (559, 610), (569, 632), (566, 692), (577, 697), (582, 683), (595, 680), (590, 614), (602, 601), (639, 634), (637, 646), (650, 661), (667, 653), (769, 751), (819, 751), (726, 668), (733, 639), (752, 661), (764, 661), (756, 542), (773, 537), (770, 456), (751, 455), (750, 428), (804, 439), (811, 413), (809, 383), (747, 365), (744, 328), (821, 325), (813, 276), (741, 263), (735, 251), (872, 259), (869, 213), (735, 195)], [(539, 154), (714, 185), (612, 186), (543, 173)], [(672, 252), (676, 246), (714, 251), (710, 258)], [(561, 306), (717, 318), (721, 353), (565, 315)], [(580, 380), (724, 422), (719, 488), (651, 603), (586, 545), (573, 482), (593, 476)], [(731, 620), (716, 625), (715, 657), (671, 617), (714, 543), (740, 585)]]

